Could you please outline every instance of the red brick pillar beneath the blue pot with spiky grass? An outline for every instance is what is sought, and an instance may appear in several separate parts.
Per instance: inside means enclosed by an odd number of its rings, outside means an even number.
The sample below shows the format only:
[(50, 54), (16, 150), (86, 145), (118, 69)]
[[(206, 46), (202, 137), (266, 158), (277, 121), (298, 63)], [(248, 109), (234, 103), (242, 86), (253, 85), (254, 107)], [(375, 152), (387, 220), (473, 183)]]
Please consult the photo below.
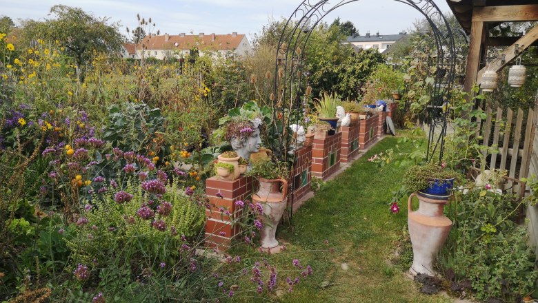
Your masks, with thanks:
[(314, 139), (312, 145), (312, 176), (325, 180), (340, 168), (342, 133)]

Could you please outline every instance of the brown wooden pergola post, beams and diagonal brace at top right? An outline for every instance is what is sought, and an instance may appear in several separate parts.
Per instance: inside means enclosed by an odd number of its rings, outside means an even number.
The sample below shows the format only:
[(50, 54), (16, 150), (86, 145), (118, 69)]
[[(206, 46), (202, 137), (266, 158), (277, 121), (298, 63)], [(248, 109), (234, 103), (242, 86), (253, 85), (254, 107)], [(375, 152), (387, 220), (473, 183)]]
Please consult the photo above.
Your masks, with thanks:
[[(519, 53), (538, 45), (538, 25), (523, 36), (491, 37), (489, 29), (503, 22), (538, 21), (537, 0), (447, 0), (461, 27), (470, 35), (464, 91), (480, 84), (486, 70), (498, 72)], [(488, 46), (508, 46), (486, 63)]]

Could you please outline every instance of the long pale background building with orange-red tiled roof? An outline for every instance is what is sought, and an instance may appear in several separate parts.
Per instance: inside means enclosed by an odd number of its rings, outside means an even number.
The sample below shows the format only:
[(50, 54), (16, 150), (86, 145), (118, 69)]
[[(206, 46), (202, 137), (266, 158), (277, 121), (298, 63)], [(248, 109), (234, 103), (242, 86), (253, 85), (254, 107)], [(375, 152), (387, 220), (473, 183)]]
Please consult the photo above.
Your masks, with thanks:
[[(142, 44), (144, 47), (142, 47)], [(135, 58), (141, 58), (142, 52), (144, 52), (145, 58), (181, 58), (188, 56), (192, 48), (197, 48), (199, 54), (203, 55), (204, 52), (212, 52), (213, 55), (226, 54), (234, 52), (239, 56), (244, 56), (247, 52), (252, 50), (250, 43), (245, 34), (185, 34), (178, 35), (163, 34), (157, 36), (151, 34), (143, 39), (143, 43), (135, 45), (136, 54)], [(127, 56), (131, 58), (130, 50), (127, 49)]]

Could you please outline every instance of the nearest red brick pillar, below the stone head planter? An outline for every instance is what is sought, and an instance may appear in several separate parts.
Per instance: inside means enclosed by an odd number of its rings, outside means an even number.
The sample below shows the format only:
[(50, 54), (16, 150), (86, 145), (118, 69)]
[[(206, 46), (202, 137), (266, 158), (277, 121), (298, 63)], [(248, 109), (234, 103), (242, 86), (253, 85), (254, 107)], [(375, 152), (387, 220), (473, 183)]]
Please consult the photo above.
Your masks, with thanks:
[[(233, 224), (235, 201), (245, 200), (252, 191), (252, 178), (220, 180), (217, 176), (206, 180), (206, 196), (211, 209), (206, 209), (206, 247), (226, 251), (232, 239), (239, 233), (239, 225)], [(222, 196), (222, 198), (220, 198)]]

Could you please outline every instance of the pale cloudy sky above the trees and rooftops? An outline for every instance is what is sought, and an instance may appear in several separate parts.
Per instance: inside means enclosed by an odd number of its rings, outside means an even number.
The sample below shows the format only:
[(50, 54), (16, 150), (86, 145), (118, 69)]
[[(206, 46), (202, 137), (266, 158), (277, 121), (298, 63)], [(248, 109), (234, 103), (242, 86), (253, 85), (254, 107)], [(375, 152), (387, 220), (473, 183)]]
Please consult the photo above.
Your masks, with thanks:
[[(315, 3), (317, 0), (310, 0)], [(338, 1), (334, 1), (337, 3)], [(441, 12), (450, 12), (446, 0), (434, 0)], [(19, 24), (19, 19), (44, 20), (56, 4), (82, 8), (96, 17), (110, 17), (125, 28), (137, 26), (137, 13), (152, 18), (161, 34), (247, 34), (252, 39), (272, 19), (288, 19), (301, 0), (0, 0), (1, 15)], [(332, 1), (330, 3), (333, 3)], [(352, 21), (359, 34), (397, 34), (412, 28), (420, 12), (397, 0), (359, 0), (330, 12), (323, 21)]]

